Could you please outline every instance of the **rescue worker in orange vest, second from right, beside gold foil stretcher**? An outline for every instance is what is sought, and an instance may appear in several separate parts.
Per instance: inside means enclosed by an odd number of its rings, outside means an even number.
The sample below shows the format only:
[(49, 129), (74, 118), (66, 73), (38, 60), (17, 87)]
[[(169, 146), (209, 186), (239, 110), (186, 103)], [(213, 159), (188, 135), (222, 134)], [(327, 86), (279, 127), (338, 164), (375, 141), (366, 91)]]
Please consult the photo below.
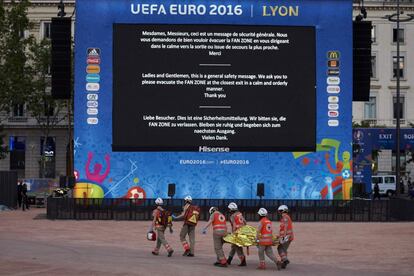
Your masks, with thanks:
[(277, 267), (277, 270), (280, 270), (281, 262), (277, 260), (276, 256), (273, 254), (273, 232), (272, 232), (272, 222), (267, 218), (267, 210), (265, 208), (260, 208), (257, 212), (260, 216), (259, 226), (257, 227), (257, 243), (259, 251), (259, 266), (257, 269), (266, 269), (265, 262), (265, 253), (269, 259), (271, 259)]

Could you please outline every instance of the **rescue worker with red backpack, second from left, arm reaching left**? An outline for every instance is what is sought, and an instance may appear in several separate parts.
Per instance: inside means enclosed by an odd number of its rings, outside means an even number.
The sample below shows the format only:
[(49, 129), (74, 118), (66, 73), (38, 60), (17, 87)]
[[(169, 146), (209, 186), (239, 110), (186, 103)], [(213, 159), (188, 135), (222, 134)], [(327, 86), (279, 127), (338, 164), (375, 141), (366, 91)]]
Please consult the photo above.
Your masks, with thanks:
[[(192, 204), (191, 196), (184, 198), (183, 212), (178, 216), (173, 216), (174, 219), (184, 219), (183, 227), (180, 231), (180, 241), (184, 248), (183, 256), (194, 257), (195, 247), (195, 227), (200, 218), (200, 207)], [(186, 240), (188, 235), (190, 244)]]

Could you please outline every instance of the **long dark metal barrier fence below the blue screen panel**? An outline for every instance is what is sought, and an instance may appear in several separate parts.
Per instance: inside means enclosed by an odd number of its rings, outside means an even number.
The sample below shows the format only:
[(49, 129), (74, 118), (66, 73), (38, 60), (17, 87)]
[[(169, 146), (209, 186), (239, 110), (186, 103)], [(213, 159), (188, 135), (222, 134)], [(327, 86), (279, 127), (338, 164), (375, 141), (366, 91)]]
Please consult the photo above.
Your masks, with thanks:
[[(227, 205), (236, 202), (247, 221), (257, 221), (257, 211), (264, 207), (272, 220), (278, 219), (277, 208), (289, 206), (294, 221), (401, 221), (414, 220), (414, 201), (391, 200), (252, 200), (252, 199), (194, 199), (201, 207), (201, 220), (208, 219), (208, 210), (217, 206), (227, 213)], [(165, 208), (178, 214), (183, 200), (166, 199)], [(122, 198), (105, 199), (47, 199), (48, 219), (77, 220), (150, 220), (155, 208), (154, 199), (134, 200)]]

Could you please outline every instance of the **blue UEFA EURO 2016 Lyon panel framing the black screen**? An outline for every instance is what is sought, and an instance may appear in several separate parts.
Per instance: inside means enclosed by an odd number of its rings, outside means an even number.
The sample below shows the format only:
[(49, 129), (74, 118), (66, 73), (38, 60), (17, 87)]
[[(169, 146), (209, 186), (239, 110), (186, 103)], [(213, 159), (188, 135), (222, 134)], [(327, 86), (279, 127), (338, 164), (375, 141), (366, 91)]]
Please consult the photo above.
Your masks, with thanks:
[[(137, 5), (143, 3), (150, 4), (145, 9), (154, 13), (142, 14), (141, 6), (141, 12), (134, 14), (138, 11)], [(171, 14), (171, 9), (175, 11), (177, 5), (186, 4), (197, 5), (200, 12), (205, 7), (207, 13), (214, 4), (241, 5), (242, 14)], [(163, 14), (161, 7), (167, 14)], [(296, 16), (295, 13), (287, 15), (290, 8), (297, 10)], [(75, 175), (78, 183), (99, 185), (105, 197), (166, 197), (168, 183), (175, 183), (178, 197), (190, 194), (193, 198), (256, 198), (257, 183), (265, 183), (264, 198), (269, 199), (350, 198), (351, 0), (77, 0), (76, 12)], [(317, 150), (311, 153), (112, 152), (114, 23), (315, 27)], [(340, 92), (337, 94), (327, 92), (329, 60), (339, 61)], [(94, 80), (87, 86), (87, 78), (91, 77)], [(333, 108), (337, 113), (329, 113), (328, 104), (338, 104), (337, 109)]]

